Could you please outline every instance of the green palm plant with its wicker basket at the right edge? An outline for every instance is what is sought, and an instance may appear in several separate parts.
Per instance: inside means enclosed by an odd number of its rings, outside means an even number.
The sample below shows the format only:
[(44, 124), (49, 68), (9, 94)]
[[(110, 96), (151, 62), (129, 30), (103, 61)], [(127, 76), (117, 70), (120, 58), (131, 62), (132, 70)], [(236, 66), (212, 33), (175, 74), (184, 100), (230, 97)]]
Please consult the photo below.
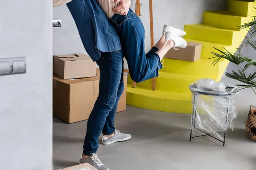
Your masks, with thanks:
[[(253, 38), (256, 37), (256, 20), (254, 16), (254, 20), (252, 20), (250, 23), (245, 23), (244, 25), (239, 26), (241, 29), (248, 29), (248, 35), (245, 37), (244, 41), (238, 48), (238, 53), (230, 53), (225, 49), (225, 51), (221, 51), (220, 49), (215, 48), (215, 50), (219, 51), (221, 54), (217, 54), (215, 52), (212, 52), (212, 54), (215, 57), (212, 57), (210, 59), (216, 59), (212, 65), (215, 65), (220, 59), (224, 58), (229, 60), (230, 62), (233, 62), (238, 66), (237, 71), (232, 71), (230, 73), (225, 73), (227, 77), (230, 77), (232, 79), (236, 79), (241, 84), (238, 84), (240, 90), (244, 88), (251, 88), (252, 91), (256, 94), (256, 72), (254, 73), (246, 73), (246, 70), (250, 67), (256, 67), (256, 60), (250, 59), (249, 57), (244, 57), (241, 55), (241, 51), (244, 47), (247, 45), (250, 45), (254, 50), (256, 50), (256, 40), (253, 40)], [(245, 63), (244, 66), (241, 66), (242, 63)], [(247, 130), (247, 136), (250, 139), (253, 139), (256, 141), (256, 108), (251, 106), (248, 119), (245, 121), (245, 126)]]

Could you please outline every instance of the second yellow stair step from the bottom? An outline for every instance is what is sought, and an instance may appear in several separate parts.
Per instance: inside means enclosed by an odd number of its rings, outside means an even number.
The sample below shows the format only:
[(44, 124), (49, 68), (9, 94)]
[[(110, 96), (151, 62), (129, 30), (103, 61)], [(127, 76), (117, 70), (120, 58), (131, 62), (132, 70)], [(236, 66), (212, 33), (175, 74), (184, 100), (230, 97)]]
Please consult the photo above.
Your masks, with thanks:
[[(160, 71), (159, 77), (156, 77), (156, 90), (189, 94), (189, 85), (198, 79), (203, 78), (211, 78), (215, 81), (221, 80), (221, 77), (209, 77), (201, 75), (191, 76), (187, 74), (174, 74)], [(132, 85), (132, 79), (130, 76), (128, 77), (128, 84)], [(136, 87), (152, 90), (152, 79), (136, 83)]]

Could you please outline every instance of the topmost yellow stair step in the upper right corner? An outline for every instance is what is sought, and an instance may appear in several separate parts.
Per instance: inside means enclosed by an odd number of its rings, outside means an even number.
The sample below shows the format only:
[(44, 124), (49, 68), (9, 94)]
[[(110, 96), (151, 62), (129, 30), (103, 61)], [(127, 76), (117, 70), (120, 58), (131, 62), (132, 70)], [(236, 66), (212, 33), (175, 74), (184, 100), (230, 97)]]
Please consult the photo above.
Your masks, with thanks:
[(242, 17), (256, 15), (255, 9), (253, 7), (256, 7), (256, 3), (254, 2), (245, 2), (239, 0), (227, 1), (227, 11)]

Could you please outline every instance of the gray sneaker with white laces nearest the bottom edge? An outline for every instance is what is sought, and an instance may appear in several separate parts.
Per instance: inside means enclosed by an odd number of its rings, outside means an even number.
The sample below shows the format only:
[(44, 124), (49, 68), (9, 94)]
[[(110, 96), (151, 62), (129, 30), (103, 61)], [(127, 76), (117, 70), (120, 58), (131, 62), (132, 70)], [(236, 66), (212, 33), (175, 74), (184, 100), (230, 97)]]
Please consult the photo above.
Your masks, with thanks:
[(83, 155), (81, 156), (81, 159), (79, 160), (79, 164), (85, 164), (89, 163), (93, 167), (95, 167), (97, 170), (109, 170), (108, 167), (106, 167), (104, 164), (102, 164), (102, 161), (99, 160), (97, 153), (93, 153), (90, 158), (84, 159)]

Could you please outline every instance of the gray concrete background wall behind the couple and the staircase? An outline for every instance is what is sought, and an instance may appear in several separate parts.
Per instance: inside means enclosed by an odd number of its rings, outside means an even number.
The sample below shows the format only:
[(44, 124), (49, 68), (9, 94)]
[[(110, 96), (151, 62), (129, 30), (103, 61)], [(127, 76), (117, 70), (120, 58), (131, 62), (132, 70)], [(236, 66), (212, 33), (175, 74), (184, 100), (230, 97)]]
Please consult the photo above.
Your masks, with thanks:
[[(153, 0), (154, 42), (160, 39), (163, 25), (183, 29), (185, 24), (201, 23), (204, 11), (224, 9), (227, 0)], [(135, 11), (136, 0), (131, 9)], [(141, 0), (141, 20), (145, 26), (145, 51), (150, 49), (148, 0)], [(55, 7), (53, 18), (62, 20), (61, 28), (53, 29), (53, 54), (86, 53), (67, 6)], [(125, 65), (127, 68), (127, 65)]]

